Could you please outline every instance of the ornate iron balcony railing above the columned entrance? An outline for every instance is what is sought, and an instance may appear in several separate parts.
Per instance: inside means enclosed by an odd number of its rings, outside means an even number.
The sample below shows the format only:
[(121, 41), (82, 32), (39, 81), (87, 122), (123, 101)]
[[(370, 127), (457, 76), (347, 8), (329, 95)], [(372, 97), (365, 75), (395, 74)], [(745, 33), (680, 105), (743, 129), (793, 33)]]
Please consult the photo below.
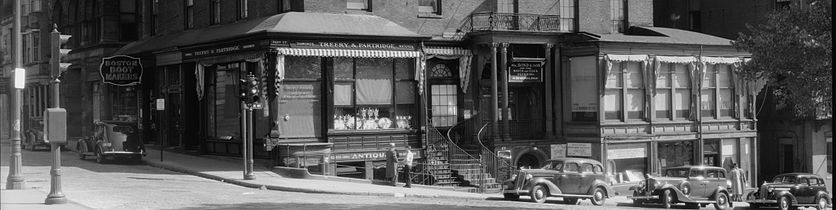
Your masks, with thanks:
[(463, 32), (475, 31), (560, 31), (560, 15), (520, 13), (473, 13), (462, 26)]

